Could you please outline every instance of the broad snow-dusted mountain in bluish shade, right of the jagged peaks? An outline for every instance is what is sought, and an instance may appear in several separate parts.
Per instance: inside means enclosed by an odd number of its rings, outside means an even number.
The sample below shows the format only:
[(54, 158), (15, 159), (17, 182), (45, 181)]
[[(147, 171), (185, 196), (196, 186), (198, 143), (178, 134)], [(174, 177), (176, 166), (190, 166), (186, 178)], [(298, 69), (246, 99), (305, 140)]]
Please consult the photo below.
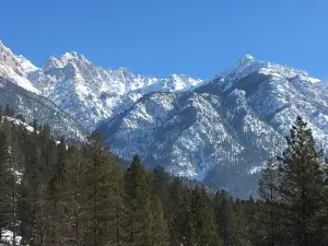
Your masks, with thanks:
[(245, 56), (192, 91), (143, 96), (99, 130), (121, 157), (139, 153), (148, 165), (247, 197), (296, 115), (327, 150), (327, 95), (304, 71)]

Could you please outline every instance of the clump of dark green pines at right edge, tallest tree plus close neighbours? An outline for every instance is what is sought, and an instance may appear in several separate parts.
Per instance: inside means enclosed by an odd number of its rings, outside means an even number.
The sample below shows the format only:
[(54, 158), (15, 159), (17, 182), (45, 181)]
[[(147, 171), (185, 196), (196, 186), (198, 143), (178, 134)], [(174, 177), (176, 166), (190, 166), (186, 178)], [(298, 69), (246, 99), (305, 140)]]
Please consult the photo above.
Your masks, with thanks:
[[(259, 181), (263, 201), (255, 245), (327, 245), (327, 164), (306, 122), (297, 117), (278, 166), (267, 163)], [(278, 168), (277, 168), (278, 167)]]

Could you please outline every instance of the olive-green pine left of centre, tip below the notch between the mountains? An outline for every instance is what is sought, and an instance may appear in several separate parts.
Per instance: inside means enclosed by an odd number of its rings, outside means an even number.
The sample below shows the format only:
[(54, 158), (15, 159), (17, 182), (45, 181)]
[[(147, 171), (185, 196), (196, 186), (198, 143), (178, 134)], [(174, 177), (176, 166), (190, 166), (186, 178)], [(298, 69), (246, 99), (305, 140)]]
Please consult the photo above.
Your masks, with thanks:
[(124, 233), (119, 230), (124, 214), (122, 175), (98, 133), (90, 138), (87, 163), (91, 214), (89, 243), (98, 246), (108, 243), (120, 245)]

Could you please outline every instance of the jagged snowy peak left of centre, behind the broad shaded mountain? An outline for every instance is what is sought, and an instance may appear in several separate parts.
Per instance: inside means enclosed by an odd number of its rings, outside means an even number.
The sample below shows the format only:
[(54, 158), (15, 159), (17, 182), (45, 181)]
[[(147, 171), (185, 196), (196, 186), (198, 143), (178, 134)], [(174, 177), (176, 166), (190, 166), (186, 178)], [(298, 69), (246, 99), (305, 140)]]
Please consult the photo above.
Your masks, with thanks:
[(51, 57), (28, 74), (42, 94), (89, 129), (129, 107), (152, 91), (183, 91), (201, 83), (187, 75), (157, 79), (133, 74), (125, 68), (105, 70), (77, 52)]

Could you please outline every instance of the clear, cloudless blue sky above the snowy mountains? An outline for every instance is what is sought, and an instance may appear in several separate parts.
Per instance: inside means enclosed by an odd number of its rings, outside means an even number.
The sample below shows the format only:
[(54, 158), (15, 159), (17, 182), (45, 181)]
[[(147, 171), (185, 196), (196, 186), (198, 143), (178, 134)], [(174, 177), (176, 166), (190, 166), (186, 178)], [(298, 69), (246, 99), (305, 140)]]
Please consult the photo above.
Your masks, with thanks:
[(210, 79), (250, 54), (328, 78), (327, 0), (2, 0), (0, 39), (42, 66), (78, 51), (104, 68)]

